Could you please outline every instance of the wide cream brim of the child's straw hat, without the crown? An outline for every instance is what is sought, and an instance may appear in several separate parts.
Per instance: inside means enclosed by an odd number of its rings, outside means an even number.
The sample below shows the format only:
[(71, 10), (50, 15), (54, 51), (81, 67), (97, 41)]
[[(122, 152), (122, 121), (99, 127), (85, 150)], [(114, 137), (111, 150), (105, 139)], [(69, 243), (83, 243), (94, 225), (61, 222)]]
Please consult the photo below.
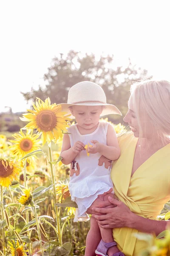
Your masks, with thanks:
[(103, 111), (100, 116), (106, 116), (106, 115), (111, 115), (111, 114), (116, 114), (116, 115), (122, 116), (122, 113), (119, 111), (119, 109), (115, 105), (112, 105), (112, 104), (86, 102), (86, 103), (78, 103), (78, 104), (61, 103), (58, 105), (61, 105), (62, 111), (67, 112), (69, 115), (71, 115), (71, 116), (69, 116), (71, 119), (75, 119), (75, 117), (72, 116), (69, 107), (76, 106), (76, 105), (79, 105), (79, 106), (104, 106)]

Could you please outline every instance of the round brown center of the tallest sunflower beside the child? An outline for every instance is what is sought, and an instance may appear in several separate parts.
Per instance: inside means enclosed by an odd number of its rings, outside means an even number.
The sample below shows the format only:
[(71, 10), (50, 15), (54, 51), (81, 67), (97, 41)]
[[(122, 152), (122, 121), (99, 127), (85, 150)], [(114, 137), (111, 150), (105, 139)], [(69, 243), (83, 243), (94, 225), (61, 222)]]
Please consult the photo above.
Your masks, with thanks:
[(52, 131), (57, 124), (57, 117), (53, 111), (42, 110), (37, 115), (36, 122), (42, 131)]

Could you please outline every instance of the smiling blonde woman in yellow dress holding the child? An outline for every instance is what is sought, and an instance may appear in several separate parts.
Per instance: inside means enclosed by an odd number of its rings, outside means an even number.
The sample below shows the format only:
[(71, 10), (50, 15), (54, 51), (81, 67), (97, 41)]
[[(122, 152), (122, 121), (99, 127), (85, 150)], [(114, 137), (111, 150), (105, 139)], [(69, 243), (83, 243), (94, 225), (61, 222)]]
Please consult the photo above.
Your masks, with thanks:
[[(114, 208), (92, 208), (102, 228), (113, 228), (119, 250), (136, 256), (147, 247), (136, 234), (166, 229), (167, 221), (157, 221), (170, 200), (170, 83), (145, 80), (130, 89), (129, 110), (124, 118), (130, 134), (119, 137), (121, 155), (111, 170), (119, 201)], [(103, 204), (105, 205), (105, 204)]]

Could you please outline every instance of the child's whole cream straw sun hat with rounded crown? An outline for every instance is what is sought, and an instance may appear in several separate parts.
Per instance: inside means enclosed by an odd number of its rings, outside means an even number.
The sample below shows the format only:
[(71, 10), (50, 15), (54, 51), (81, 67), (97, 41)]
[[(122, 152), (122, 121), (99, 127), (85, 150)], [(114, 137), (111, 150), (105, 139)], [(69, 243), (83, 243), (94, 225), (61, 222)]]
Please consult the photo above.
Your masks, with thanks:
[[(106, 103), (105, 92), (98, 84), (90, 81), (82, 81), (73, 85), (68, 91), (67, 103), (59, 104), (62, 106), (62, 111), (71, 114), (69, 107), (74, 105), (81, 106), (104, 106), (101, 116), (109, 114), (118, 114), (122, 116), (116, 106)], [(74, 116), (70, 116), (74, 118)]]

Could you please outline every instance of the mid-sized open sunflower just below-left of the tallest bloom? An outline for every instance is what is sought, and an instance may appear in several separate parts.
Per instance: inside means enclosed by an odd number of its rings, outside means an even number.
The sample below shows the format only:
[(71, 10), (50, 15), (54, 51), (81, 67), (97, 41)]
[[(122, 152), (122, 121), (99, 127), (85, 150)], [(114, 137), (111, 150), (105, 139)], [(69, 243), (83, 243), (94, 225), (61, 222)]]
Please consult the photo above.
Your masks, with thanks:
[[(13, 134), (12, 137), (14, 137), (15, 140), (9, 140), (13, 143), (10, 149), (15, 156), (22, 158), (25, 157), (26, 154), (40, 149), (41, 140), (38, 140), (39, 134), (33, 134), (33, 130), (31, 129), (27, 129), (26, 134), (24, 134), (21, 129), (19, 134)], [(34, 156), (31, 156), (31, 158), (34, 159)]]

